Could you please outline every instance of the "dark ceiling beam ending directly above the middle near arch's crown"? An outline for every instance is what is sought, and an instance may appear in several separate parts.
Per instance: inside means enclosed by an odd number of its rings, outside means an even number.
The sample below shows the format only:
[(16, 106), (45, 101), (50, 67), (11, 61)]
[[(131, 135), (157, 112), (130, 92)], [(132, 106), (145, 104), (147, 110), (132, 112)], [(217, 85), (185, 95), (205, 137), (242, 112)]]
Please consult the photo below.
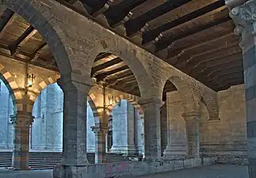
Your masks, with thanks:
[(132, 13), (130, 12), (131, 9), (142, 5), (146, 1), (148, 0), (125, 0), (111, 6), (109, 9), (107, 9), (104, 15), (107, 18), (109, 25), (112, 28), (115, 28), (118, 25), (124, 24), (130, 19), (132, 16)]

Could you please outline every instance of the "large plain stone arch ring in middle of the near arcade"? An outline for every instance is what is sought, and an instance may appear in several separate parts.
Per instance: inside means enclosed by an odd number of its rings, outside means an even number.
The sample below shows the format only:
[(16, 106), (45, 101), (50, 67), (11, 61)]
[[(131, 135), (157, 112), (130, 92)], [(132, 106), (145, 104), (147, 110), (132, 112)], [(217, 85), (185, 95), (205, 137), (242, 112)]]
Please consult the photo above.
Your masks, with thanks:
[[(129, 44), (114, 38), (109, 40), (98, 40), (95, 42), (91, 53), (88, 55), (88, 66), (93, 65), (95, 58), (100, 52), (108, 52), (122, 59), (134, 74), (134, 77), (138, 82), (141, 97), (151, 97), (149, 88), (153, 87), (153, 78), (151, 74), (146, 71), (145, 66), (143, 66), (140, 59), (138, 59), (136, 49)], [(89, 72), (91, 75), (91, 68)]]

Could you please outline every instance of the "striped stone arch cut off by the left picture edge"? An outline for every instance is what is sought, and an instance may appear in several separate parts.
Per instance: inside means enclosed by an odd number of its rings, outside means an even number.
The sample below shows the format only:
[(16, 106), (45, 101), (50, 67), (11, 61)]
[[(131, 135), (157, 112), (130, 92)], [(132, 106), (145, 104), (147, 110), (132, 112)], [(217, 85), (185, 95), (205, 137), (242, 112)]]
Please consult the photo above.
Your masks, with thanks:
[(9, 90), (10, 97), (14, 104), (14, 113), (19, 111), (23, 107), (19, 107), (17, 100), (22, 98), (21, 91), (9, 70), (6, 70), (5, 66), (0, 63), (0, 79), (5, 83), (7, 89)]

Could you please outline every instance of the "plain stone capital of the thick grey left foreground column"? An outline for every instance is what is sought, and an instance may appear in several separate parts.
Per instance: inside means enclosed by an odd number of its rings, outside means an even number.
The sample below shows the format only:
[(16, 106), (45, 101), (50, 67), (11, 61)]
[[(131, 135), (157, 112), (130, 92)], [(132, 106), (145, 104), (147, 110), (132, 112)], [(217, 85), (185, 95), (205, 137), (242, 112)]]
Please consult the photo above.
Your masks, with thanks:
[(63, 91), (78, 89), (82, 92), (88, 93), (93, 83), (94, 81), (91, 78), (76, 73), (62, 75), (57, 79), (57, 84), (60, 85), (60, 88)]

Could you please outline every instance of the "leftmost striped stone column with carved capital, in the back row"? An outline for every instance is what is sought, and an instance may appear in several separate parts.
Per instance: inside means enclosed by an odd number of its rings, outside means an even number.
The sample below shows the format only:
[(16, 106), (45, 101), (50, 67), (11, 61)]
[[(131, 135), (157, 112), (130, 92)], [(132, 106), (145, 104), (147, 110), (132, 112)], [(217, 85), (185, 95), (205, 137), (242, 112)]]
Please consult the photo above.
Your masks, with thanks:
[(29, 169), (29, 127), (33, 123), (32, 113), (17, 112), (11, 116), (14, 124), (13, 169)]

